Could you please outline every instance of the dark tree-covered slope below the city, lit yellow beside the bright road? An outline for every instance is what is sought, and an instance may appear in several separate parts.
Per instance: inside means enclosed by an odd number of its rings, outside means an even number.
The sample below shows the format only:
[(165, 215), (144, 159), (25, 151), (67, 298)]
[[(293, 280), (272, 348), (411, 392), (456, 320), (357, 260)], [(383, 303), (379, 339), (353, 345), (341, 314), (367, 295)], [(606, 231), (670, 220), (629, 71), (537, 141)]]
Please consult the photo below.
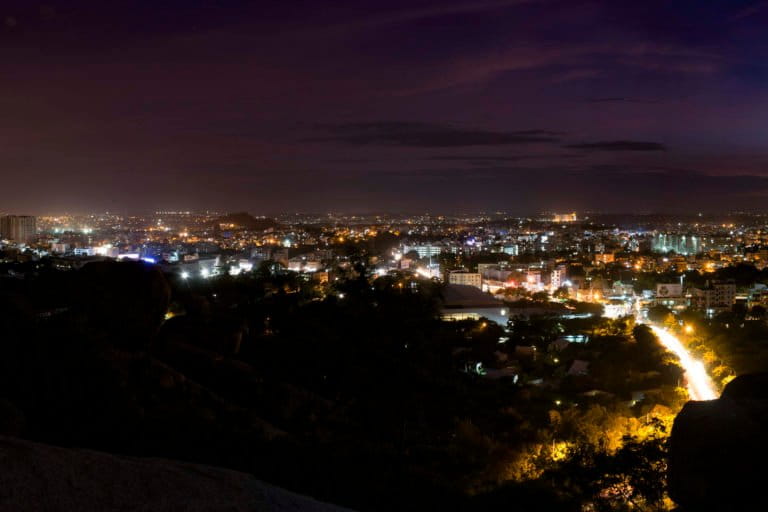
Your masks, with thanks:
[(374, 278), (356, 256), (323, 285), (271, 262), (188, 280), (40, 265), (0, 296), (5, 433), (231, 467), (361, 510), (665, 503), (685, 392), (629, 318), (444, 322), (437, 283)]

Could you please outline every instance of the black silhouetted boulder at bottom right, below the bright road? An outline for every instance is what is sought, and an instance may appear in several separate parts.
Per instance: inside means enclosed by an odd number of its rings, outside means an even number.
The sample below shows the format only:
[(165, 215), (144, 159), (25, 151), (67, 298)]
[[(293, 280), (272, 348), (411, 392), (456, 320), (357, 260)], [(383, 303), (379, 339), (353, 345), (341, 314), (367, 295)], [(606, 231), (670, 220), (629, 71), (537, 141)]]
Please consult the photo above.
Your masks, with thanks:
[(688, 402), (670, 440), (669, 492), (684, 510), (768, 510), (768, 373)]

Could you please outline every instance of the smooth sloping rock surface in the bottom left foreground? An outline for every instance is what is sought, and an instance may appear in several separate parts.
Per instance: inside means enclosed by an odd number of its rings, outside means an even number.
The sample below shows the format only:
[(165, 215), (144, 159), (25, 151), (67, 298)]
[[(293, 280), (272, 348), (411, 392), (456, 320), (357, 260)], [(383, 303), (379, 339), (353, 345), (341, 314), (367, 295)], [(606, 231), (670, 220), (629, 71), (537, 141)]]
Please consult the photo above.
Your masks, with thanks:
[(340, 507), (252, 476), (0, 437), (0, 510), (316, 511)]

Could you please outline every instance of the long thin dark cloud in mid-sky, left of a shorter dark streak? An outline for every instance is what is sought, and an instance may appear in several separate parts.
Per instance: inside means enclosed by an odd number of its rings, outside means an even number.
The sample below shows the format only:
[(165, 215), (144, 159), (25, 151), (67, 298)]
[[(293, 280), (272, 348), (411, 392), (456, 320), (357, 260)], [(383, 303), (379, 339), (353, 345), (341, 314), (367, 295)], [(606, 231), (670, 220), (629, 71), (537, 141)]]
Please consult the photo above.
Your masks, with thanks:
[(504, 146), (560, 141), (559, 133), (547, 130), (500, 132), (408, 121), (349, 123), (333, 126), (330, 131), (333, 135), (310, 140), (342, 142), (361, 146), (391, 145), (425, 148)]

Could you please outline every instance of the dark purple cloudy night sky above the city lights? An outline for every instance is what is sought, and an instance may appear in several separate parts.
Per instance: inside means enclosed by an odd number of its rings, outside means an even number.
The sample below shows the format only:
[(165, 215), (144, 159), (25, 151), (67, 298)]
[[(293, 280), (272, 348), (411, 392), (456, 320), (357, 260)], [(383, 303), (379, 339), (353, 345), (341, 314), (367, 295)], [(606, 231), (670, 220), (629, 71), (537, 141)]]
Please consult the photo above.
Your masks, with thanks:
[(5, 0), (0, 41), (0, 211), (766, 205), (766, 1)]

